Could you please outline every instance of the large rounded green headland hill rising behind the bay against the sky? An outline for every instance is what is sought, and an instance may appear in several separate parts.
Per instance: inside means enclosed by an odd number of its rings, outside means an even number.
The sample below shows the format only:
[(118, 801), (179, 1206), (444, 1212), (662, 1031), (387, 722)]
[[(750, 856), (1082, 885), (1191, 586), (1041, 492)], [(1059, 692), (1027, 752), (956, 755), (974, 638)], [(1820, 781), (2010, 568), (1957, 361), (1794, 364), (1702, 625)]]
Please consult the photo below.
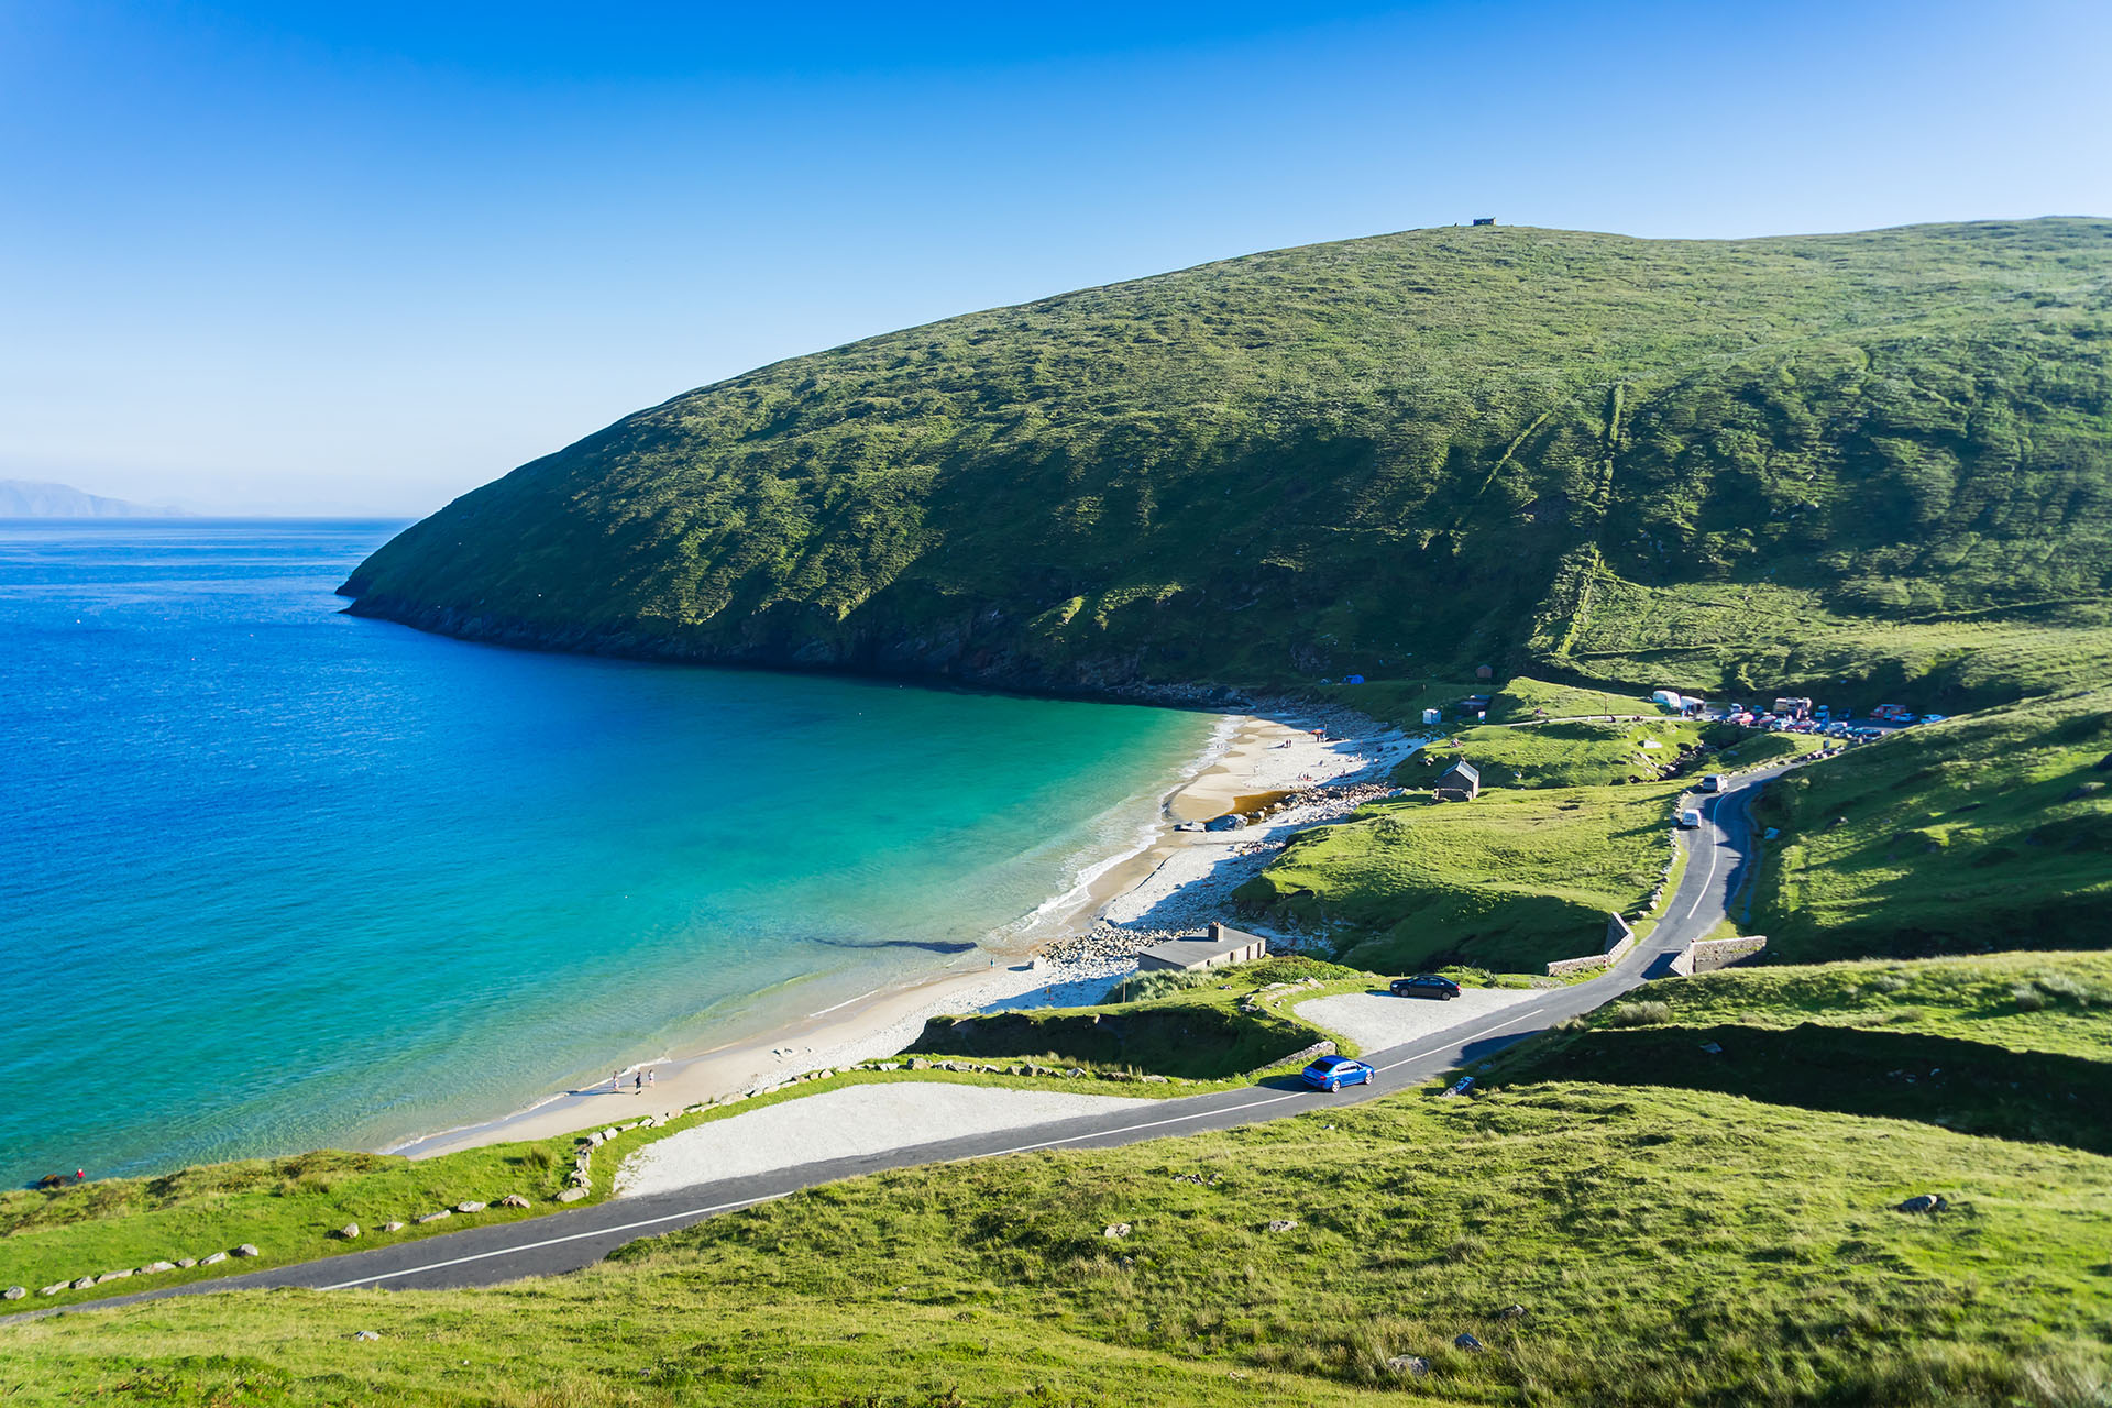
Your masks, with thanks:
[(676, 397), (355, 610), (1039, 688), (1350, 671), (1992, 703), (2112, 663), (2112, 222), (1417, 230)]

